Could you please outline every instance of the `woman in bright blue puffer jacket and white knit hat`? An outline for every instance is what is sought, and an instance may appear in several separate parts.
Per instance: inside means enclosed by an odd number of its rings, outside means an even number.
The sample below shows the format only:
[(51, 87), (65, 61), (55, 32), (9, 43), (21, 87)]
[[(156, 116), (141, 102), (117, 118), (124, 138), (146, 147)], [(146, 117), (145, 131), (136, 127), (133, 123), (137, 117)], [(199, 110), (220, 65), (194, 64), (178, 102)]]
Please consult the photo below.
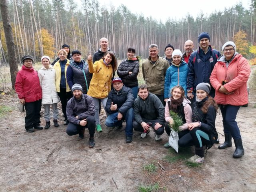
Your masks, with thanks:
[(182, 60), (182, 52), (175, 49), (172, 52), (172, 65), (167, 69), (164, 81), (164, 101), (170, 98), (170, 90), (180, 85), (185, 90), (187, 95), (187, 77), (188, 77), (188, 64)]

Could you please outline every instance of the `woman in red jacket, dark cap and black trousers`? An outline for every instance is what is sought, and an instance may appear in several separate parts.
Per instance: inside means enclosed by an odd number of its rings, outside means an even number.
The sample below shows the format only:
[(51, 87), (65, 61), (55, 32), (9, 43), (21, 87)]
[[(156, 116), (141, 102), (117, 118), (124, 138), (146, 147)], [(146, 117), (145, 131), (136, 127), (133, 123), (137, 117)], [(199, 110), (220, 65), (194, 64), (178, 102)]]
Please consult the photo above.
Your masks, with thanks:
[(40, 125), (40, 111), (42, 102), (42, 89), (36, 70), (33, 68), (34, 59), (31, 55), (21, 58), (23, 66), (17, 73), (15, 90), (26, 109), (25, 129), (34, 132), (34, 129), (42, 130)]

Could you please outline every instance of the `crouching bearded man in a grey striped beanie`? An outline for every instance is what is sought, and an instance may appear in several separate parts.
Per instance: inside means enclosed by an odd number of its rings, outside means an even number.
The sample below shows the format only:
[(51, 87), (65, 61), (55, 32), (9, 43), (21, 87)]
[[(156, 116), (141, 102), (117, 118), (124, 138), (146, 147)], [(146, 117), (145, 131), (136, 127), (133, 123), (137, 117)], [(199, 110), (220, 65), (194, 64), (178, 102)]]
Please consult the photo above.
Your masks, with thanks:
[(68, 135), (79, 134), (79, 138), (84, 138), (84, 129), (88, 128), (90, 138), (89, 147), (95, 145), (95, 118), (94, 118), (94, 102), (91, 96), (82, 93), (82, 86), (74, 84), (72, 86), (73, 97), (67, 103), (67, 118), (69, 121), (67, 127)]

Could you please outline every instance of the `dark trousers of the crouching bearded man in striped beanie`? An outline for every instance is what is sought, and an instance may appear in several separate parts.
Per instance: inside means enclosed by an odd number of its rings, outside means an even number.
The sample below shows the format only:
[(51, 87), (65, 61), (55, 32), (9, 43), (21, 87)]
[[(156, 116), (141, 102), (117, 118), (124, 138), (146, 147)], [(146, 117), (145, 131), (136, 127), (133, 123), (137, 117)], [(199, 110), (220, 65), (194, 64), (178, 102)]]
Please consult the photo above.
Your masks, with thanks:
[[(84, 127), (88, 128), (90, 137), (93, 137), (95, 133), (95, 126), (96, 126), (95, 118), (94, 116), (88, 116), (86, 117), (86, 121), (87, 121), (87, 124)], [(69, 122), (66, 132), (69, 136), (76, 135), (81, 132), (82, 128), (83, 126), (81, 125), (77, 125)]]

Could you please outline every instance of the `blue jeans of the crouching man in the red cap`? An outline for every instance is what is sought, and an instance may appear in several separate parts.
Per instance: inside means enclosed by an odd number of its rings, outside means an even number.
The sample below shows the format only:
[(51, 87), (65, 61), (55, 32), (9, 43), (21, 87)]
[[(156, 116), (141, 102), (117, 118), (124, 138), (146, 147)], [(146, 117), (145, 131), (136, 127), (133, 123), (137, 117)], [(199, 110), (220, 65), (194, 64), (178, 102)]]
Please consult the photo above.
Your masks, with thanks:
[(125, 118), (126, 121), (126, 127), (125, 127), (125, 134), (126, 135), (132, 135), (132, 121), (134, 118), (134, 112), (133, 108), (130, 108), (127, 112), (125, 117), (123, 116), (122, 120), (118, 121), (117, 119), (118, 112), (110, 114), (106, 119), (106, 126), (107, 127), (115, 127), (115, 126), (122, 126), (123, 119)]

